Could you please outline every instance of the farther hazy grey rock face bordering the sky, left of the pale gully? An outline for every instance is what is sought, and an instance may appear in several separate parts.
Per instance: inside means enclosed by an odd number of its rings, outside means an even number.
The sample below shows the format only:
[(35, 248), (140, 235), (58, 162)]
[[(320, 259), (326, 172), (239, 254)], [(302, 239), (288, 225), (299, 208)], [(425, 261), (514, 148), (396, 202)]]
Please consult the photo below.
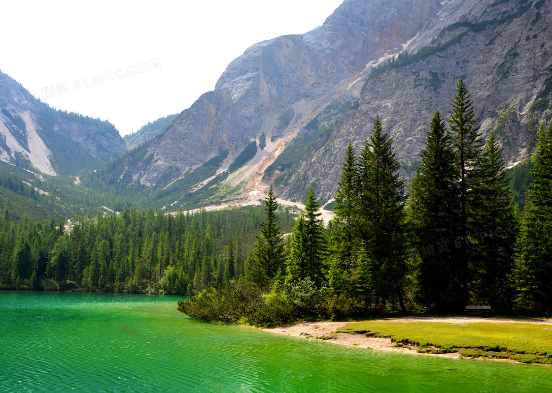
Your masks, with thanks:
[[(130, 170), (144, 182), (171, 181), (219, 150), (235, 157), (263, 133), (270, 140), (298, 130), (342, 95), (369, 61), (402, 49), (439, 8), (437, 1), (348, 0), (320, 28), (253, 45), (229, 64), (215, 91), (153, 139), (152, 164)], [(289, 112), (293, 118), (283, 127)]]

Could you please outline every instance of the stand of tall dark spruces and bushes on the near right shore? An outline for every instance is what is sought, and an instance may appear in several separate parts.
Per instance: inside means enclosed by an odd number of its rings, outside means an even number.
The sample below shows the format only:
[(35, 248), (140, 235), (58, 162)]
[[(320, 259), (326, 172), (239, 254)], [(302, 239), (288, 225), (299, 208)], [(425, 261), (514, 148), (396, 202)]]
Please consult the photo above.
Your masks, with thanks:
[(375, 116), (358, 155), (347, 146), (329, 238), (311, 187), (285, 253), (271, 188), (250, 274), (179, 302), (179, 310), (256, 325), (389, 310), (457, 313), (470, 304), (552, 313), (552, 123), (539, 128), (522, 219), (496, 136), (482, 139), (461, 79), (451, 106), (448, 119), (439, 111), (431, 119), (408, 193)]

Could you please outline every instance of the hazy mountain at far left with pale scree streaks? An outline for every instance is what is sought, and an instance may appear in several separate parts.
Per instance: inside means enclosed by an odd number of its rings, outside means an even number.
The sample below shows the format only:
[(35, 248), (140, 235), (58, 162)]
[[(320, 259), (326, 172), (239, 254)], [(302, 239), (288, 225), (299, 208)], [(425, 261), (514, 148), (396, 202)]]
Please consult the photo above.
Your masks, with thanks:
[(126, 150), (111, 123), (52, 109), (0, 71), (0, 160), (66, 175)]

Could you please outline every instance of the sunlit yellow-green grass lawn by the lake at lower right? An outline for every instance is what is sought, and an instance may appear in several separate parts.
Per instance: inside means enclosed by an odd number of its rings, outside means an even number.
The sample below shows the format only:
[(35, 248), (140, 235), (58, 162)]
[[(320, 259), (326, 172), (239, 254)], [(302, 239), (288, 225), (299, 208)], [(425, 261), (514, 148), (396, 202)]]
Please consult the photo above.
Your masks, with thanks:
[(418, 352), (459, 352), (466, 357), (493, 357), (522, 363), (552, 364), (552, 325), (474, 322), (463, 325), (427, 321), (363, 321), (341, 332), (366, 332), (397, 343), (420, 345)]

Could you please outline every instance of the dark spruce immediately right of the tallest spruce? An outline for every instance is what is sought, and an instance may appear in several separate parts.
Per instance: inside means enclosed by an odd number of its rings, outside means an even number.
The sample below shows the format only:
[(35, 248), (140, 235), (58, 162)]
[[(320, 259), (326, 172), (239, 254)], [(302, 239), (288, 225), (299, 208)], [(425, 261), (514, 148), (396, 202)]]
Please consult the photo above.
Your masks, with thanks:
[(482, 157), (479, 184), (480, 205), (476, 221), (481, 225), (474, 244), (472, 287), (475, 302), (488, 303), (494, 310), (513, 306), (512, 270), (518, 232), (505, 164), (495, 133), (491, 131)]

